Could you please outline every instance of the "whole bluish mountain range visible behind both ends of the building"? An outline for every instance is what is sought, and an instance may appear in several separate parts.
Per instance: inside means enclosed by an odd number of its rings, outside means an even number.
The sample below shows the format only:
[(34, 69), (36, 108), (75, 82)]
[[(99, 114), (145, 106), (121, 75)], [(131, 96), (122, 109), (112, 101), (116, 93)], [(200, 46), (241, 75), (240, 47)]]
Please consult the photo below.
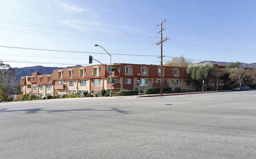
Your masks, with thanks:
[[(213, 63), (221, 66), (227, 66), (229, 62), (217, 62), (217, 61), (202, 61), (199, 63)], [(81, 65), (76, 65), (72, 67), (82, 67)], [(65, 68), (72, 68), (72, 67), (65, 67)], [(249, 67), (249, 68), (256, 68), (256, 63), (240, 63), (240, 67)], [(13, 68), (15, 70), (15, 74), (19, 77), (23, 76), (31, 76), (33, 72), (40, 72), (41, 74), (52, 74), (53, 70), (63, 69), (64, 67), (43, 67), (43, 66), (34, 66), (34, 67), (23, 67), (23, 68)]]

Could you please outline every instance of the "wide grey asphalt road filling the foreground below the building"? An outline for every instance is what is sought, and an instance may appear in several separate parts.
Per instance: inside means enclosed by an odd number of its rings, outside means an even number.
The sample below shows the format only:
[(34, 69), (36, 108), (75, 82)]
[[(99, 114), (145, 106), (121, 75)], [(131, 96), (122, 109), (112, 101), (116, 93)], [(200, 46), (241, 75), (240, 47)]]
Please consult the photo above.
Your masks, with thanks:
[(256, 91), (0, 103), (0, 158), (256, 158)]

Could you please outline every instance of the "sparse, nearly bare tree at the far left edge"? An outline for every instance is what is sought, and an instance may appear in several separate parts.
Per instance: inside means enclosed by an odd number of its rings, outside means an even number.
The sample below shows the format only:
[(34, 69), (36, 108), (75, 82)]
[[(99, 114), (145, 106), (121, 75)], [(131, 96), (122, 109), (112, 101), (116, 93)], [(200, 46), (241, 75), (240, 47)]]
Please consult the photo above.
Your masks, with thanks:
[(18, 76), (10, 65), (0, 61), (0, 98), (6, 100), (17, 85)]

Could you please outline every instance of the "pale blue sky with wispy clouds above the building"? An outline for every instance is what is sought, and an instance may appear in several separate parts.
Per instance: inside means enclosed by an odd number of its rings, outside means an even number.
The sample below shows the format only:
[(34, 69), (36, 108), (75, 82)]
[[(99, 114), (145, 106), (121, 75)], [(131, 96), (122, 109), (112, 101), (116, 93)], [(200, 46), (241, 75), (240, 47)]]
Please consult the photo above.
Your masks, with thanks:
[(0, 60), (160, 65), (165, 20), (163, 60), (256, 63), (255, 17), (255, 0), (0, 0)]

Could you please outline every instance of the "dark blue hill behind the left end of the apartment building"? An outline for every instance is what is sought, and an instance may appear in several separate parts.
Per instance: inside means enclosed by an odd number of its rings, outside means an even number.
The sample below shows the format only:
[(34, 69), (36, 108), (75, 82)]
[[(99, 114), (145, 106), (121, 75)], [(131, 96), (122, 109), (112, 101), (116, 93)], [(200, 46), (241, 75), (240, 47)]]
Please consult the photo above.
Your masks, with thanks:
[[(81, 65), (76, 66), (69, 66), (65, 68), (72, 68), (72, 67), (82, 67)], [(53, 70), (57, 69), (63, 69), (64, 67), (43, 67), (43, 66), (34, 66), (34, 67), (23, 67), (23, 68), (13, 68), (15, 70), (15, 74), (17, 76), (23, 77), (23, 76), (31, 76), (33, 72), (40, 72), (41, 74), (52, 74)]]

